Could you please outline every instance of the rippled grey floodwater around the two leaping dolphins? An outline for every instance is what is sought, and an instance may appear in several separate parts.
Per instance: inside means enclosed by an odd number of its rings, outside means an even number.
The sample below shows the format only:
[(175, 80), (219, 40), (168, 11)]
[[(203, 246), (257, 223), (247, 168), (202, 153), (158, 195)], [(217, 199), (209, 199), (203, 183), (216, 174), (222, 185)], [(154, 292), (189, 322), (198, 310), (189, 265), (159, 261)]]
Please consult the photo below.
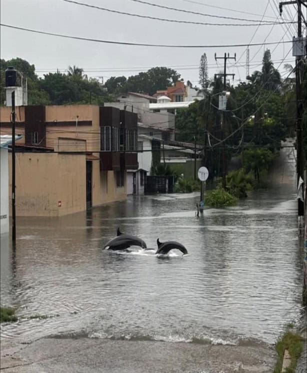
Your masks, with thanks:
[[(87, 214), (19, 218), (14, 260), (1, 236), (1, 304), (20, 321), (1, 325), (1, 335), (273, 343), (301, 310), (294, 195), (255, 193), (199, 219), (197, 198), (134, 197)], [(102, 251), (118, 226), (152, 250)], [(189, 255), (155, 256), (157, 238)], [(26, 319), (33, 314), (49, 318)]]

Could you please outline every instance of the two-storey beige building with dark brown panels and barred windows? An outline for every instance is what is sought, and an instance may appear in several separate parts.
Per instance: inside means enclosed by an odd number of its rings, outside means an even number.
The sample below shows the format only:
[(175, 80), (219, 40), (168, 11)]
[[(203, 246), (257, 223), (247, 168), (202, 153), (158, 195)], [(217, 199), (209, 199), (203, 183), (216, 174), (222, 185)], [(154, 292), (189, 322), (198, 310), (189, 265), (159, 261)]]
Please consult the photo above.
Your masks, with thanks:
[[(11, 133), (11, 108), (0, 132)], [(16, 108), (16, 215), (61, 216), (126, 198), (137, 169), (137, 116), (95, 105)], [(11, 184), (11, 156), (9, 154)], [(10, 189), (9, 189), (10, 190)]]

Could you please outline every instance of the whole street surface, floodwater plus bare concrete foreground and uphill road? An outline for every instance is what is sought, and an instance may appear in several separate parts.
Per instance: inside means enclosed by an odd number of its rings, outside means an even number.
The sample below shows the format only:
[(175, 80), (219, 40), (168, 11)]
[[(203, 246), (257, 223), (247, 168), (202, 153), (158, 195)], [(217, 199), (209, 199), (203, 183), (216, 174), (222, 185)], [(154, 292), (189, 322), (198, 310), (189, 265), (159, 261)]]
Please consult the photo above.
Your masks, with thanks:
[[(19, 318), (1, 324), (1, 350), (30, 363), (14, 372), (271, 372), (273, 344), (302, 314), (295, 165), (285, 155), (278, 187), (199, 219), (198, 193), (18, 218), (15, 251), (1, 236), (0, 272), (1, 305)], [(102, 250), (117, 227), (152, 250)], [(158, 257), (157, 238), (189, 254)]]

